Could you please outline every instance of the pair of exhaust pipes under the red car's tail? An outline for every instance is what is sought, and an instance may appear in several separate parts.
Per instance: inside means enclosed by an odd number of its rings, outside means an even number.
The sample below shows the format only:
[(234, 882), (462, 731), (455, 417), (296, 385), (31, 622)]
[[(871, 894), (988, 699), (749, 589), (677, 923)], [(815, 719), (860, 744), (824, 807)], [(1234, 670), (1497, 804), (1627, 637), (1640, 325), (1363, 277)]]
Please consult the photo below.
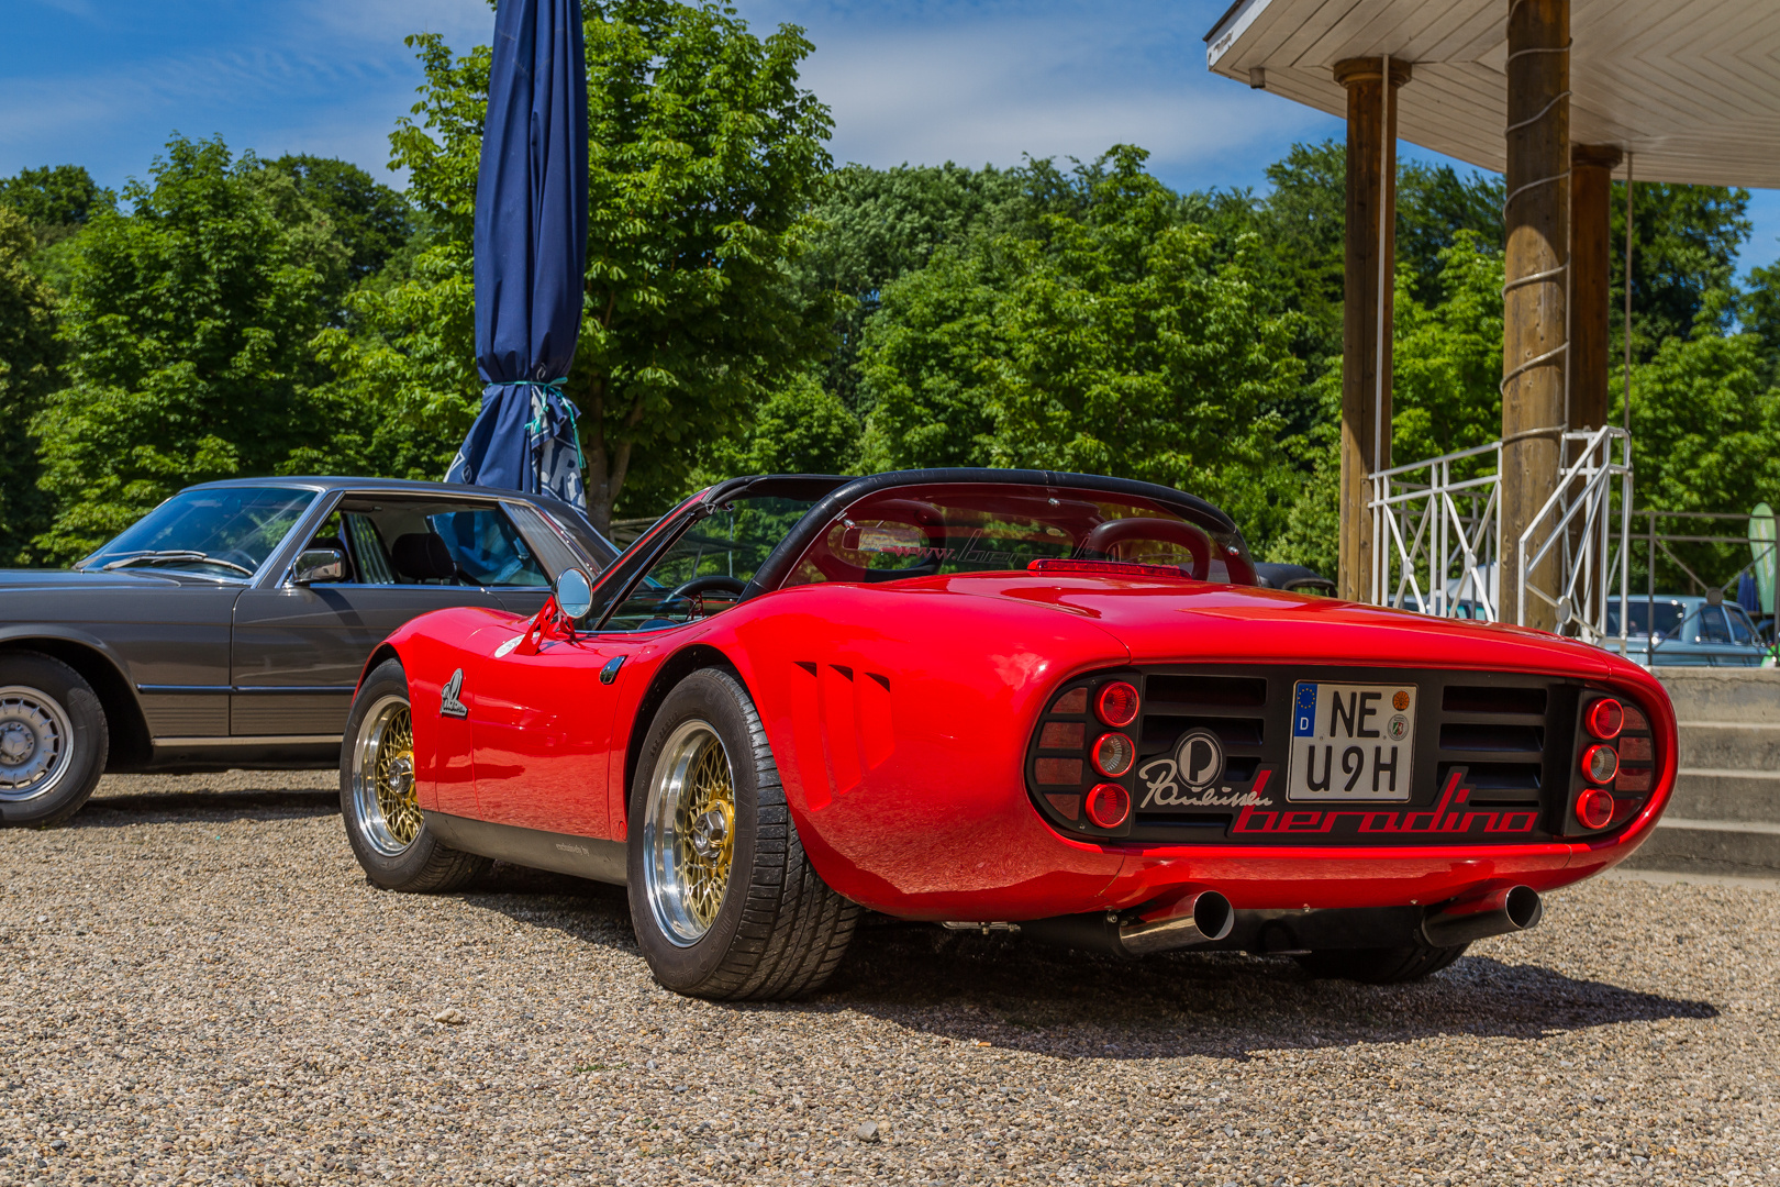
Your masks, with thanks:
[[(1385, 911), (1392, 909), (1387, 908)], [(1347, 920), (1339, 924), (1331, 920), (1335, 924), (1333, 933), (1339, 933), (1340, 940), (1330, 934), (1326, 940), (1331, 941), (1315, 941), (1319, 931), (1330, 931), (1319, 929), (1319, 915), (1353, 916), (1356, 913), (1342, 909), (1326, 913), (1308, 911), (1298, 916), (1294, 931), (1307, 941), (1305, 949), (1367, 947), (1353, 943), (1353, 929), (1347, 925)], [(1397, 933), (1378, 934), (1374, 943), (1376, 947), (1401, 947), (1403, 943), (1420, 941), (1436, 949), (1452, 949), (1474, 940), (1527, 931), (1538, 925), (1543, 913), (1545, 904), (1531, 886), (1493, 888), (1428, 908), (1419, 927), (1410, 934), (1401, 934), (1399, 925)], [(1193, 890), (1136, 918), (1118, 913), (1063, 915), (1024, 922), (1018, 927), (1034, 940), (1059, 947), (1111, 950), (1120, 956), (1148, 956), (1152, 952), (1200, 949), (1232, 940), (1237, 927), (1244, 924), (1242, 915), (1248, 913), (1239, 913), (1216, 890)], [(1234, 943), (1223, 947), (1248, 949), (1250, 933), (1257, 931), (1257, 924), (1262, 927), (1267, 925), (1260, 922), (1260, 913), (1255, 913), (1255, 920), (1246, 922), (1244, 936), (1237, 936)]]

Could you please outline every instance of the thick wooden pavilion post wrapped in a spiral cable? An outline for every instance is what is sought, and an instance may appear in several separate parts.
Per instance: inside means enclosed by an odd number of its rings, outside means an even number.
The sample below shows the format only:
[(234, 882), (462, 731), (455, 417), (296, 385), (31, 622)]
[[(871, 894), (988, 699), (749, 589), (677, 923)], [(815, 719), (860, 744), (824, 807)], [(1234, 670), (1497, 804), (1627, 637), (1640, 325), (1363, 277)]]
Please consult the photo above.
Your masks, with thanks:
[[(1558, 489), (1565, 429), (1570, 262), (1570, 0), (1508, 9), (1508, 224), (1502, 295), (1502, 618), (1520, 603), (1520, 534)], [(1543, 543), (1527, 541), (1531, 557)], [(1556, 594), (1558, 550), (1527, 573)], [(1522, 626), (1550, 630), (1556, 610), (1525, 598)]]

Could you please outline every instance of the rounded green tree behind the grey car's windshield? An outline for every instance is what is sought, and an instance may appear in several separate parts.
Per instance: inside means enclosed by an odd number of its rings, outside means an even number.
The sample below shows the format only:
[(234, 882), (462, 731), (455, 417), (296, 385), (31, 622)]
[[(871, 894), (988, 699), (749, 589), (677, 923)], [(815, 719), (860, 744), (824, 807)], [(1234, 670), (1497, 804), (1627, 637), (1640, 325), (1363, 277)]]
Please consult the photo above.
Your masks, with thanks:
[(130, 214), (80, 237), (69, 384), (37, 416), (57, 514), (37, 545), (78, 557), (187, 482), (269, 473), (320, 436), (310, 340), (345, 251), (288, 174), (174, 137)]

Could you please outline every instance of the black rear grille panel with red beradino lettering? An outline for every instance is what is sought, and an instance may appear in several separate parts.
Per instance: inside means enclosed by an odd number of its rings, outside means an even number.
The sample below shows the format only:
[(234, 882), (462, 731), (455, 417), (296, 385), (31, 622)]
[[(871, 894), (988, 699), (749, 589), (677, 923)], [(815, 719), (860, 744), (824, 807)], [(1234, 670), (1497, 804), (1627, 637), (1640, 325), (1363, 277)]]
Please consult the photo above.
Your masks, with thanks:
[[(1132, 815), (1116, 829), (1098, 829), (1086, 822), (1080, 797), (1107, 779), (1091, 762), (1057, 760), (1084, 756), (1107, 731), (1093, 703), (1096, 689), (1112, 680), (1137, 685), (1143, 712), (1123, 730), (1137, 744), (1137, 762), (1112, 779), (1130, 792)], [(1408, 799), (1287, 799), (1299, 682), (1413, 685)], [(1308, 666), (1107, 671), (1057, 690), (1032, 735), (1027, 783), (1052, 824), (1084, 836), (1232, 845), (1545, 840), (1563, 831), (1570, 810), (1568, 769), (1582, 696), (1581, 682), (1508, 673)], [(1191, 783), (1177, 769), (1177, 747), (1194, 731), (1212, 735), (1223, 751), (1216, 781)], [(1040, 737), (1047, 739), (1043, 755)], [(1077, 739), (1077, 747), (1061, 749)]]

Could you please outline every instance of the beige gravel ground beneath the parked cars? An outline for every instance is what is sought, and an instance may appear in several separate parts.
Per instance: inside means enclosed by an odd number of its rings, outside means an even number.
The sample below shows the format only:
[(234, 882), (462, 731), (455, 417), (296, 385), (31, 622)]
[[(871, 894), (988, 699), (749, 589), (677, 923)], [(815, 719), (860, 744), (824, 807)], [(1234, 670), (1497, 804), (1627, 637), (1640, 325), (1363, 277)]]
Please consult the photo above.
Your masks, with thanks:
[(372, 890), (328, 781), (0, 835), (0, 1182), (1780, 1178), (1775, 890), (1595, 881), (1387, 989), (881, 925), (815, 1000), (714, 1005), (614, 888)]

